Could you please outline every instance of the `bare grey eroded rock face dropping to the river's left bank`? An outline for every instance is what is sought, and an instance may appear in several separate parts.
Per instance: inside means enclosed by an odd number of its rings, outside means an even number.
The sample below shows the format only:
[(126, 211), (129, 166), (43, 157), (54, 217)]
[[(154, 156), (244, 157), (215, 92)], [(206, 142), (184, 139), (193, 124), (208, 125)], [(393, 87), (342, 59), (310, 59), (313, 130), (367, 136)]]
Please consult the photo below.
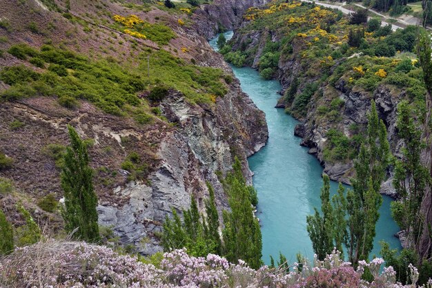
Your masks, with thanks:
[[(244, 174), (251, 183), (246, 157), (259, 150), (268, 138), (264, 113), (241, 92), (237, 80), (215, 107), (188, 103), (176, 91), (160, 104), (163, 115), (177, 129), (161, 141), (157, 157), (159, 168), (150, 174), (148, 183), (132, 182), (117, 192), (128, 198), (121, 207), (101, 204), (99, 222), (113, 227), (124, 244), (135, 244), (140, 253), (159, 251), (155, 232), (171, 209), (190, 207), (190, 195), (204, 207), (208, 197), (206, 182), (215, 189), (219, 211), (228, 209), (226, 195), (216, 172), (231, 169), (234, 156), (244, 163)], [(143, 243), (142, 239), (147, 239)]]

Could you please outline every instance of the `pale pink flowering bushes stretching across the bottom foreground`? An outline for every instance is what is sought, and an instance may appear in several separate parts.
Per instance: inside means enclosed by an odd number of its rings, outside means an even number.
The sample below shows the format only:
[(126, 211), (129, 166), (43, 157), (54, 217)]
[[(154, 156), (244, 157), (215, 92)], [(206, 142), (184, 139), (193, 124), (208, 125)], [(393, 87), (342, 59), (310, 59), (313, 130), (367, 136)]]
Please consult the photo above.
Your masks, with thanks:
[[(381, 258), (360, 261), (355, 270), (333, 251), (323, 261), (315, 258), (313, 268), (293, 263), (292, 271), (267, 266), (254, 270), (242, 260), (235, 265), (214, 254), (195, 258), (180, 249), (164, 253), (156, 268), (107, 247), (49, 241), (19, 248), (1, 259), (0, 287), (415, 287), (395, 283), (392, 267), (380, 273), (383, 262)], [(362, 280), (366, 267), (372, 282)], [(412, 265), (410, 269), (415, 283), (418, 271)]]

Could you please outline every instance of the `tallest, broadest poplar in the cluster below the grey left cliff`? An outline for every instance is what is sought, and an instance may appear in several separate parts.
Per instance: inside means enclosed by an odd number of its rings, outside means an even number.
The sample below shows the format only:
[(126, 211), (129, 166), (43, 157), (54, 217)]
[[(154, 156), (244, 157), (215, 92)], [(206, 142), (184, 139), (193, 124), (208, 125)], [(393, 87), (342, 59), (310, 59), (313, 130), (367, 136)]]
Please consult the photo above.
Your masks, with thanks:
[(226, 177), (226, 186), (231, 211), (224, 211), (225, 229), (222, 235), (225, 256), (230, 262), (242, 259), (251, 268), (258, 269), (262, 265), (262, 235), (259, 222), (253, 215), (251, 191), (237, 157), (233, 172)]

